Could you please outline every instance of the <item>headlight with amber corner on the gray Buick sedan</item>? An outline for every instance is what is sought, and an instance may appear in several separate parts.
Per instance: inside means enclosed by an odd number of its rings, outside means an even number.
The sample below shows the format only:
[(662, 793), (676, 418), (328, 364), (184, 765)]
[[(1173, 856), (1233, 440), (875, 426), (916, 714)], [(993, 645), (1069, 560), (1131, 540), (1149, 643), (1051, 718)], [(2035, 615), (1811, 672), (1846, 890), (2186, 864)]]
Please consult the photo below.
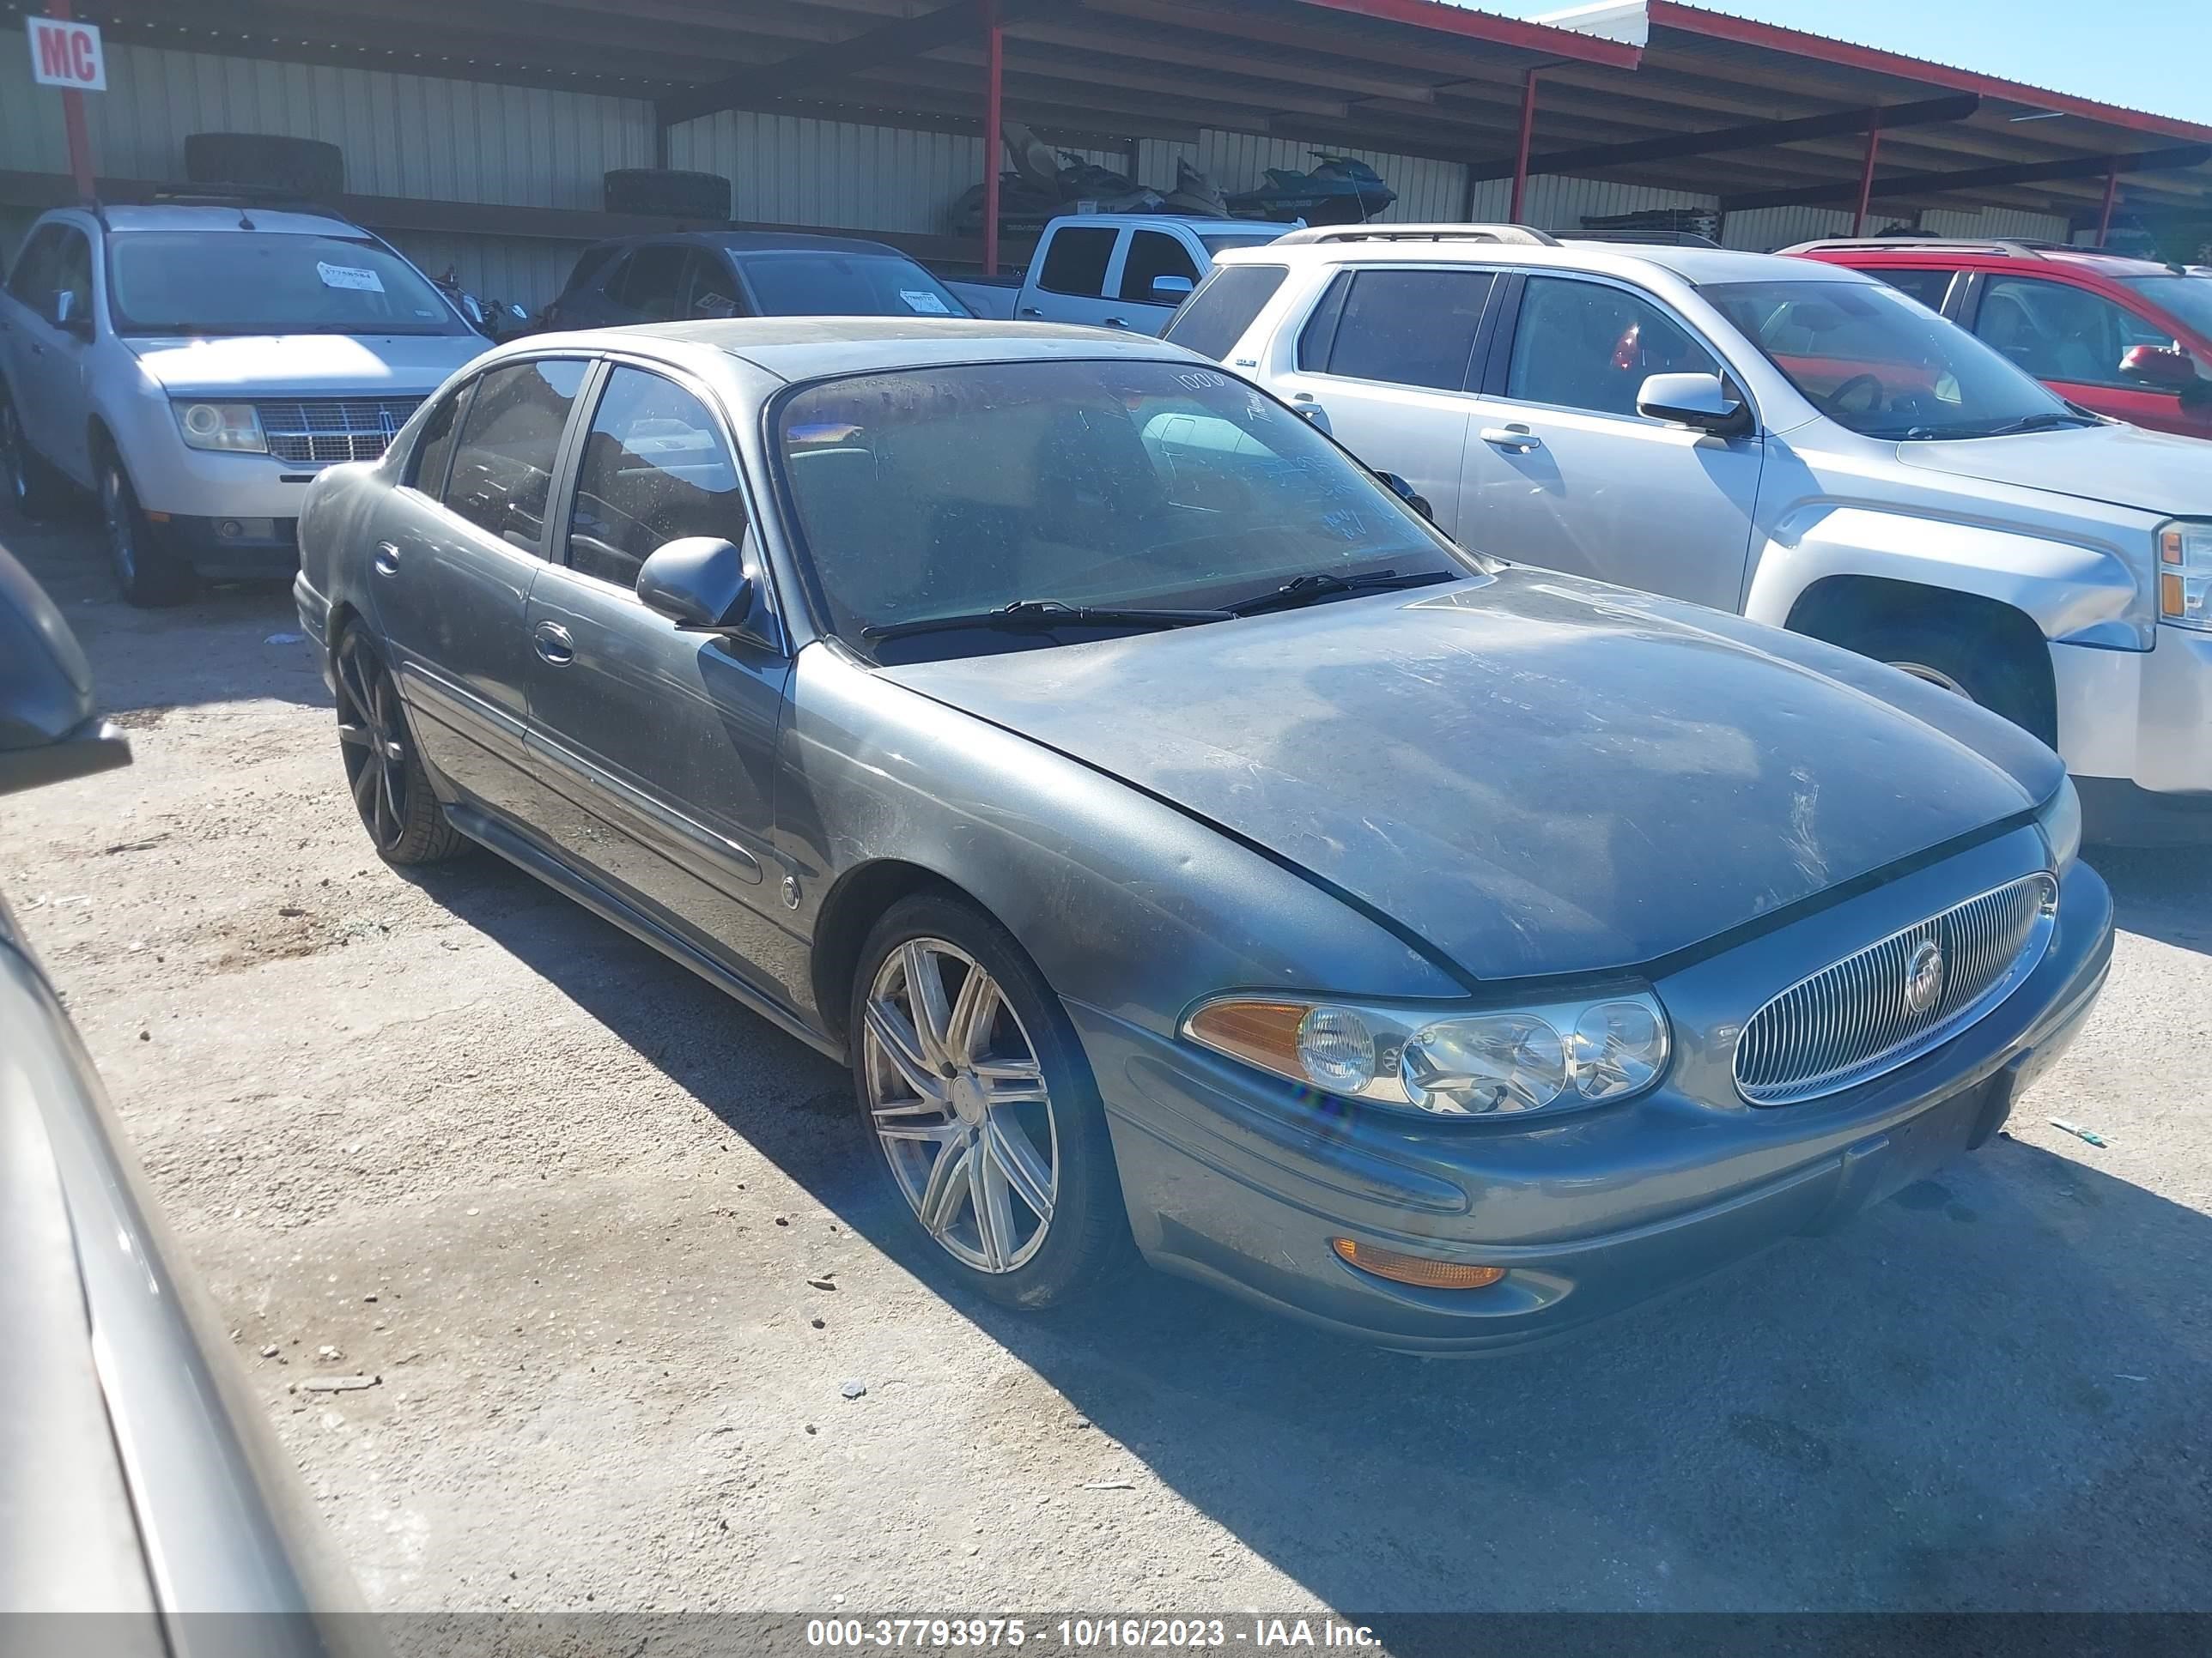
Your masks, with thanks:
[(1294, 1083), (1436, 1116), (1630, 1099), (1668, 1061), (1666, 1012), (1648, 990), (1480, 1012), (1219, 997), (1183, 1019), (1183, 1035)]

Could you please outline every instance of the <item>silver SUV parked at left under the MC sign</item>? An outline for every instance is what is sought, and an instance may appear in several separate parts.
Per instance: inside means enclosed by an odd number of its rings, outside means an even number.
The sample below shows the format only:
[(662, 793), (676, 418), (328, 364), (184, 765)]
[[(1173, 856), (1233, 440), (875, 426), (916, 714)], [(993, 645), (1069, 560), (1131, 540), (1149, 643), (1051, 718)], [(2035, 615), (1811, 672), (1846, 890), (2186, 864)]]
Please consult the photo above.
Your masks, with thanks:
[(487, 340), (378, 237), (250, 199), (64, 208), (0, 292), (0, 480), (100, 497), (131, 604), (296, 568), (299, 502)]

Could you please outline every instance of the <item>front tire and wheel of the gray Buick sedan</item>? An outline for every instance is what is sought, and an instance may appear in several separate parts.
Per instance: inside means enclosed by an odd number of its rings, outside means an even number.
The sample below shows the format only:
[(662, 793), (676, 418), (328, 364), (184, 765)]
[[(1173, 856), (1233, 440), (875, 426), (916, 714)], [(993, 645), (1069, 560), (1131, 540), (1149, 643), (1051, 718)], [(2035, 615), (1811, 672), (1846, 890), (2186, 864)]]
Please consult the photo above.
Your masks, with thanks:
[(958, 1282), (1057, 1307), (1130, 1256), (1106, 1110), (1060, 999), (973, 904), (894, 904), (852, 995), (854, 1085), (891, 1185)]

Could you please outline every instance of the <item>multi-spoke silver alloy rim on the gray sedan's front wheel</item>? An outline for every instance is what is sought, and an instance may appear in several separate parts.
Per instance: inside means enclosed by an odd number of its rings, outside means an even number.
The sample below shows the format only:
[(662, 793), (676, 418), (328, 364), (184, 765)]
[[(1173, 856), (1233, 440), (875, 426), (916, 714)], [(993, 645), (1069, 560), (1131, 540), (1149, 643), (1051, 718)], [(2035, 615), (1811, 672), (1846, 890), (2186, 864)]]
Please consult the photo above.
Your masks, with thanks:
[(1006, 993), (958, 944), (920, 937), (885, 957), (863, 1021), (867, 1110), (898, 1189), (953, 1260), (1015, 1271), (1053, 1225), (1060, 1130)]

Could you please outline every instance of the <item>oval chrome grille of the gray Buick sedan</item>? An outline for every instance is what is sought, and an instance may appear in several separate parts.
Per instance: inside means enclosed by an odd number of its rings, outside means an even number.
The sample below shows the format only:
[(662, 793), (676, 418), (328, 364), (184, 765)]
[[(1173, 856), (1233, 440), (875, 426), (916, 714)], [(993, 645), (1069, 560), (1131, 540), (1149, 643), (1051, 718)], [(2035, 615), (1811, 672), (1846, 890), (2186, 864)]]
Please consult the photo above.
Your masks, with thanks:
[[(1792, 1105), (1896, 1070), (1995, 1006), (2042, 959), (2057, 904), (2051, 875), (2026, 875), (1891, 933), (1798, 979), (1736, 1039), (1736, 1090)], [(1913, 966), (1942, 951), (1940, 990), (1916, 1008)], [(1922, 973), (1922, 995), (1931, 975)]]

